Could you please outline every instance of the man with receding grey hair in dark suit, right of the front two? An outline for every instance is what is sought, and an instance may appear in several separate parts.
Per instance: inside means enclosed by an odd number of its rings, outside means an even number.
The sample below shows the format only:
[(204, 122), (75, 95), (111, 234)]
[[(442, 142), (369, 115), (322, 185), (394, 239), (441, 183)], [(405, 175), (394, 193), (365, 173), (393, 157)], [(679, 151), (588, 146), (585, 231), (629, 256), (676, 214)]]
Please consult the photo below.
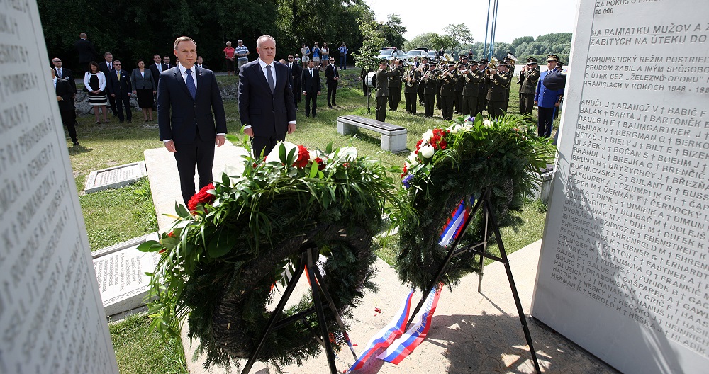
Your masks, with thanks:
[(239, 69), (239, 116), (251, 137), (255, 157), (269, 154), (286, 132), (296, 130), (296, 106), (288, 67), (274, 62), (276, 40), (263, 35), (256, 40), (258, 60)]

